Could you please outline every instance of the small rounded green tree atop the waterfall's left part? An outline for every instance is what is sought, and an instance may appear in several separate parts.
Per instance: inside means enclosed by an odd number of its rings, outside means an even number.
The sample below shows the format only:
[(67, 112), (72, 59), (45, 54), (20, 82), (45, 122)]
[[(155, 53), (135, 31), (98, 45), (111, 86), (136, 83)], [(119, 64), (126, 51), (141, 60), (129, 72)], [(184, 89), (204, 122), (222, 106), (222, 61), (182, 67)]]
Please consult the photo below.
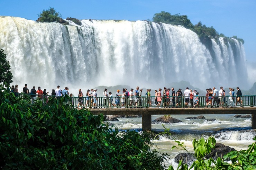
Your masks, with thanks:
[(43, 10), (43, 12), (38, 14), (40, 21), (42, 22), (57, 22), (61, 19), (61, 14), (56, 12), (52, 7), (49, 7), (48, 10)]

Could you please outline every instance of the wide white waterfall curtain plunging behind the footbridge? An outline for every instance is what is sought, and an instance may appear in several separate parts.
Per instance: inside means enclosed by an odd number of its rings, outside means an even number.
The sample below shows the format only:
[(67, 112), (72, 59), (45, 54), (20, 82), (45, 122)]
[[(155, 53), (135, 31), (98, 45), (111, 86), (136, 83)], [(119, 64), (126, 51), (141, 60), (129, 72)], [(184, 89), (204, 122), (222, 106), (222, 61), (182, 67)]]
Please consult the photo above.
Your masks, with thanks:
[[(212, 38), (211, 55), (191, 30), (147, 21), (81, 20), (41, 23), (0, 17), (0, 48), (14, 83), (88, 88), (128, 84), (196, 87), (247, 82), (243, 44)], [(63, 87), (62, 86), (62, 87)]]

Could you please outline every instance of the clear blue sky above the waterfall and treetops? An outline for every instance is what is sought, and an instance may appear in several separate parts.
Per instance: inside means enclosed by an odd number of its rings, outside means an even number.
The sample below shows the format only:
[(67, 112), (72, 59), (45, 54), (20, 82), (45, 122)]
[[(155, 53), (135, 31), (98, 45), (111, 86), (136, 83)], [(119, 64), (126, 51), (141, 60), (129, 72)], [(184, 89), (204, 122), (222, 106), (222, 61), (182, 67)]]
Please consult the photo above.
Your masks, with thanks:
[(0, 16), (37, 20), (49, 7), (63, 19), (152, 20), (161, 11), (186, 15), (227, 37), (244, 39), (246, 60), (256, 63), (256, 0), (0, 0)]

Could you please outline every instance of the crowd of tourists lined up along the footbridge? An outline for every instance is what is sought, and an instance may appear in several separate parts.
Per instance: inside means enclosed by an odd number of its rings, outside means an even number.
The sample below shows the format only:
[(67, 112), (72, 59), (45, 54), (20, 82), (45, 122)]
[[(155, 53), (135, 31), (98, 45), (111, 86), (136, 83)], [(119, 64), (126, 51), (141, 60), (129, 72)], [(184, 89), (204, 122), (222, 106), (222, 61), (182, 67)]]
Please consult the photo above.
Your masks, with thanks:
[[(235, 90), (232, 88), (229, 88), (229, 94), (228, 97), (228, 102), (226, 101), (226, 92), (223, 89), (223, 87), (220, 87), (220, 90), (217, 90), (215, 87), (212, 89), (205, 89), (207, 92), (205, 94), (205, 107), (223, 107), (229, 106), (229, 107), (236, 107), (237, 104), (240, 104), (242, 106), (243, 101), (241, 100), (242, 92), (239, 89), (239, 87), (236, 88), (237, 92), (235, 95)], [(98, 94), (97, 94), (98, 89), (88, 89), (86, 92), (86, 95), (84, 97), (83, 92), (81, 89), (79, 89), (78, 93), (78, 105), (77, 107), (92, 107), (92, 108), (97, 108), (98, 106)], [(25, 94), (29, 94), (31, 97), (31, 102), (33, 103), (36, 100), (36, 97), (40, 99), (45, 99), (46, 104), (48, 102), (48, 96), (49, 92), (46, 89), (42, 90), (41, 87), (38, 87), (38, 89), (35, 89), (35, 86), (30, 90), (27, 88), (27, 84), (25, 84), (24, 88), (22, 89), (22, 92)], [(158, 90), (155, 90), (154, 94), (151, 94), (151, 89), (147, 89), (146, 93), (143, 94), (143, 89), (139, 89), (137, 86), (136, 89), (130, 89), (128, 91), (126, 88), (122, 89), (122, 92), (118, 89), (117, 92), (115, 93), (115, 96), (113, 97), (112, 92), (108, 92), (108, 89), (104, 89), (103, 92), (103, 106), (102, 107), (114, 107), (114, 108), (142, 108), (142, 97), (146, 97), (146, 105), (151, 108), (152, 106), (152, 98), (155, 103), (155, 107), (157, 108), (175, 108), (175, 107), (180, 107), (181, 104), (184, 102), (184, 107), (196, 107), (199, 106), (199, 92), (194, 89), (189, 89), (189, 87), (186, 87), (184, 90), (184, 93), (182, 92), (182, 89), (178, 89), (176, 92), (174, 88), (163, 88), (163, 91), (161, 88)], [(18, 96), (19, 91), (18, 91), (18, 85), (12, 86), (11, 87), (11, 92), (15, 93), (15, 96)], [(53, 97), (60, 97), (60, 96), (65, 96), (68, 95), (70, 97), (74, 97), (72, 93), (68, 92), (68, 87), (65, 87), (65, 89), (61, 90), (60, 86), (57, 86), (57, 89), (52, 89), (51, 96)], [(201, 95), (202, 96), (202, 95)], [(113, 101), (115, 98), (115, 101)], [(85, 99), (85, 100), (84, 100)], [(185, 101), (183, 101), (183, 99)], [(120, 102), (121, 100), (121, 102)], [(84, 104), (85, 102), (85, 104)], [(73, 102), (74, 103), (74, 102)]]

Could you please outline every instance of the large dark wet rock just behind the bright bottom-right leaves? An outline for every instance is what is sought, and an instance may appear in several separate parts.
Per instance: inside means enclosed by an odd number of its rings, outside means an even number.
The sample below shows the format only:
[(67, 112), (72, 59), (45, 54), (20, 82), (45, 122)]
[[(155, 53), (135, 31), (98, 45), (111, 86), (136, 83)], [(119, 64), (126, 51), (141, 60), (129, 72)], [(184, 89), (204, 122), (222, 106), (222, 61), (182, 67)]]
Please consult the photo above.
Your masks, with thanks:
[(229, 146), (226, 146), (222, 143), (216, 143), (215, 148), (212, 149), (211, 153), (205, 156), (205, 158), (213, 158), (214, 160), (217, 160), (218, 157), (223, 158), (225, 154), (228, 152), (235, 151), (234, 148), (231, 148)]

